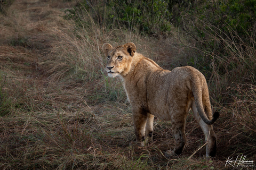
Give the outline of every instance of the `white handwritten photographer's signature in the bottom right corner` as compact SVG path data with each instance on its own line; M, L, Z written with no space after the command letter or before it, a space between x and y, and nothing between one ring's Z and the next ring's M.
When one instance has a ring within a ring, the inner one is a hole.
M239 155L234 158L234 157L231 157L230 156L228 157L228 159L226 160L226 165L231 165L233 166L234 168L238 168L239 167L253 167L254 166L254 161L253 160L245 160L246 158L246 155L242 155L241 157L239 157Z

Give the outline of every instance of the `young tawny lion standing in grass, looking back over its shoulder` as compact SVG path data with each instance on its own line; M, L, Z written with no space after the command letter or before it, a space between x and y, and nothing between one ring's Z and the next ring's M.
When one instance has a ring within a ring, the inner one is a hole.
M109 77L120 76L131 104L136 143L143 146L153 141L154 116L171 121L175 138L173 150L166 156L181 154L186 144L185 124L192 109L205 135L206 157L215 157L217 136L212 124L219 113L212 115L209 91L204 75L191 66L164 70L153 60L136 52L133 43L113 47L103 44Z

